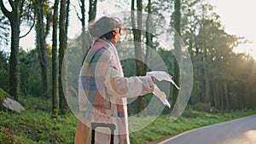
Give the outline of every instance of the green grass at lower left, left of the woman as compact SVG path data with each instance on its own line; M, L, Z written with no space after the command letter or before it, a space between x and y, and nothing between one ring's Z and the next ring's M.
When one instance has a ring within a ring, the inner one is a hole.
M76 118L47 112L0 112L0 143L73 143Z

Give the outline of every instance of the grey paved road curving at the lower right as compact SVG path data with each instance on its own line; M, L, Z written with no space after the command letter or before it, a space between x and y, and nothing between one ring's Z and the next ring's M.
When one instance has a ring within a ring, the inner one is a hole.
M190 130L159 144L256 144L256 115Z

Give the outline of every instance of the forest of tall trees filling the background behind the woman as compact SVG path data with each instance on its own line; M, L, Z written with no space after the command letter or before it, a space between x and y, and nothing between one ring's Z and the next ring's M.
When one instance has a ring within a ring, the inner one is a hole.
M70 78L76 83L78 74L63 65L79 72L84 52L91 43L87 27L91 20L98 18L97 10L101 8L97 4L104 0L78 2L79 6L75 7L72 0L0 0L0 89L24 106L38 105L38 109L53 117L70 112L67 103L72 101L67 101L65 94ZM148 49L153 49L180 85L177 59L181 58L174 54L180 53L183 47L188 49L193 66L188 107L206 112L233 112L256 107L256 61L250 55L233 51L248 40L227 33L220 15L210 3L204 0L131 0L127 4L131 8L131 29L127 28L125 38L148 47L135 43L136 49L119 51L119 55L131 53L147 61L153 59L147 53ZM112 5L120 7L118 2ZM67 37L67 33L73 31L70 29L70 9L75 9L81 27L75 38ZM150 14L154 16L150 17ZM158 18L166 21L165 29L160 28L163 27L161 24L153 25L159 22ZM128 21L124 20L127 27ZM25 28L26 33L21 33ZM153 33L148 32L150 28ZM173 49L165 49L160 44L157 37L162 30L173 35ZM35 32L34 48L22 49L20 38L32 31ZM73 60L63 62L65 53L71 51ZM126 77L141 76L148 71L139 60L123 60L121 63ZM179 91L173 85L170 89L169 100L174 106ZM129 113L143 111L151 99L152 95L140 96L129 104ZM0 101L3 102L2 98ZM40 101L47 106L42 106ZM161 114L168 113L170 110L166 107Z

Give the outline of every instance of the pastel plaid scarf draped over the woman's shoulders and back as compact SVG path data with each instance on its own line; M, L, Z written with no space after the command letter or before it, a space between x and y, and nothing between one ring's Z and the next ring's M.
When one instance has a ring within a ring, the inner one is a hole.
M113 55L112 57L106 58L106 56L103 56L106 53ZM119 142L129 143L126 99L120 98L117 99L117 104L111 103L104 85L105 72L110 59L118 63L116 68L119 71L119 76L123 77L124 74L119 62L119 56L113 44L108 42L108 40L97 39L84 58L83 66L80 71L79 109L86 114L84 118L90 121L91 119L96 119L91 118L90 112L100 112L106 115L106 111L110 109L112 105L116 105L120 119L119 122L117 122L119 134L124 134L119 135Z

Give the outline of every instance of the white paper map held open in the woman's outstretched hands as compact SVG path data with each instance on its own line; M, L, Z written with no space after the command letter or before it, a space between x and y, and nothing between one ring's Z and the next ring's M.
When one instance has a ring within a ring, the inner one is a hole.
M147 72L148 76L154 76L154 78L156 78L159 81L165 80L167 82L171 82L177 89L180 89L177 84L174 83L174 81L172 80L172 76L170 74L168 74L167 72L164 71L152 71L152 72ZM169 101L166 99L166 94L161 91L157 85L154 84L154 91L153 94L156 95L160 101L166 105L167 107L171 108L171 104L169 103Z

